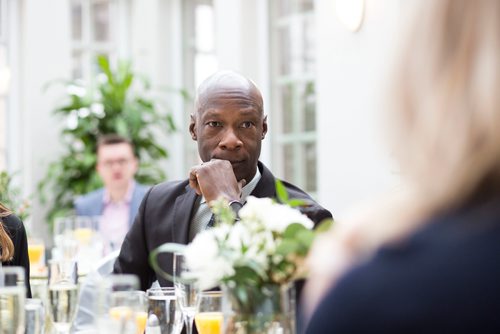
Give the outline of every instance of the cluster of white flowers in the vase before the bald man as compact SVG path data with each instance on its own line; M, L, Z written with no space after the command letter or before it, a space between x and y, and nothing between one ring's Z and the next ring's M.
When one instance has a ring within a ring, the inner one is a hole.
M224 210L231 210L227 203L216 205L222 206L221 211L216 210L221 212L220 217L227 216ZM302 259L276 254L278 245L290 224L311 229L313 222L299 210L270 198L249 197L239 216L239 221L225 219L214 228L199 233L187 246L187 265L199 287L208 289L222 282L245 284L249 270L258 276L251 275L250 279L260 282L292 279L294 264ZM288 238L288 242L298 242L293 237ZM284 271L283 263L289 264L286 268L291 272Z

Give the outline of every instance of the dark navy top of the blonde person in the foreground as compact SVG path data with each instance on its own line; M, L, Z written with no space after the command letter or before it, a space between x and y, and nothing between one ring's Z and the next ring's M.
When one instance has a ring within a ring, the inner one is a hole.
M306 333L500 333L500 198L430 221L327 294Z

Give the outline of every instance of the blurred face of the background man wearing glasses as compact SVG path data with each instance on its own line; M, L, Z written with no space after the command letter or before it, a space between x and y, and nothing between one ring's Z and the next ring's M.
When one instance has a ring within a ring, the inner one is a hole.
M106 188L127 186L137 167L137 159L127 143L103 145L97 151L97 172Z

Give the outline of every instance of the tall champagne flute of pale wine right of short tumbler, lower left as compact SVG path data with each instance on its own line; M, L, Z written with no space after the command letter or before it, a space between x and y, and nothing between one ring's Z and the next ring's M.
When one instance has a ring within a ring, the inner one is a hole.
M75 261L49 261L49 313L58 333L69 333L78 298Z

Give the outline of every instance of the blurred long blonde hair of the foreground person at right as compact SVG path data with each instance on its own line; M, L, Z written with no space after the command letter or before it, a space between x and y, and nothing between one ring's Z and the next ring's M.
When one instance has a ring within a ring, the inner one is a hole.
M429 214L500 184L500 1L421 1L396 67L391 142Z

